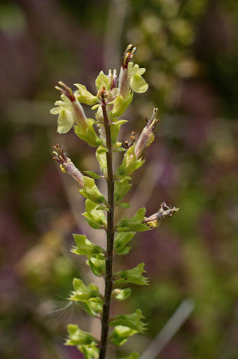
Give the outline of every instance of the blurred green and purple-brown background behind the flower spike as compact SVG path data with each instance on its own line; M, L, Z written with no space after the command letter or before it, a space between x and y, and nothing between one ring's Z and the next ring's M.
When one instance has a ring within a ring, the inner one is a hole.
M140 308L149 325L111 358L142 353L186 298L195 310L158 358L238 358L237 23L235 0L0 1L1 358L83 358L62 344L67 323L99 336L99 323L65 298L74 277L96 280L69 252L71 233L100 245L104 233L83 221L83 199L52 145L80 170L97 172L97 163L73 131L56 133L49 110L57 81L94 92L101 69L120 69L128 43L150 87L134 95L120 140L139 137L153 106L160 123L127 212L146 206L151 215L162 201L180 210L138 234L116 264L146 263L151 285L112 310Z

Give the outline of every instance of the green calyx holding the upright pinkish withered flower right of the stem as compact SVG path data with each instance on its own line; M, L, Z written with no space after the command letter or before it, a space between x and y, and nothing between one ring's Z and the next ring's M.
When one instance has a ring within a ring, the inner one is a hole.
M116 178L123 178L131 175L135 170L144 165L145 161L141 158L137 159L134 154L134 145L127 149L123 163L118 167L115 173Z

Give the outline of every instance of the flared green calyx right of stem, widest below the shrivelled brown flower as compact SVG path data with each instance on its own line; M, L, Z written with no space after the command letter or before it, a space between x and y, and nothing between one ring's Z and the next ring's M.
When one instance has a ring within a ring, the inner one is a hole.
M115 280L114 283L134 283L137 285L148 285L148 278L144 277L144 263L138 264L135 268L129 269L128 271L120 271L116 273L120 279Z

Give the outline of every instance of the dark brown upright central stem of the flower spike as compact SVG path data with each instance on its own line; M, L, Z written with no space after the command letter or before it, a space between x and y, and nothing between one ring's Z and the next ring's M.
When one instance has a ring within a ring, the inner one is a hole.
M114 240L114 181L113 181L113 163L112 163L112 146L111 146L111 129L109 118L106 111L106 102L104 97L102 97L102 111L104 114L104 126L106 132L106 146L108 151L106 152L106 163L108 170L108 177L106 179L107 189L108 189L108 203L109 203L109 212L107 215L107 231L106 231L106 240L107 240L107 255L106 255L106 276L105 276L105 302L102 315L102 335L101 335L101 348L99 359L106 358L106 346L107 338L109 333L109 316L110 316L110 306L111 306L111 291L113 289L113 240Z

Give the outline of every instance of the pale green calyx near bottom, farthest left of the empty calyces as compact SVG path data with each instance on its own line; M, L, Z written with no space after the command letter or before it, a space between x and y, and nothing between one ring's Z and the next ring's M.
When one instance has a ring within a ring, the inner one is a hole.
M83 330L80 330L76 324L69 324L68 332L69 339L66 340L65 345L75 346L97 343L97 339L94 338L92 334L83 332Z

